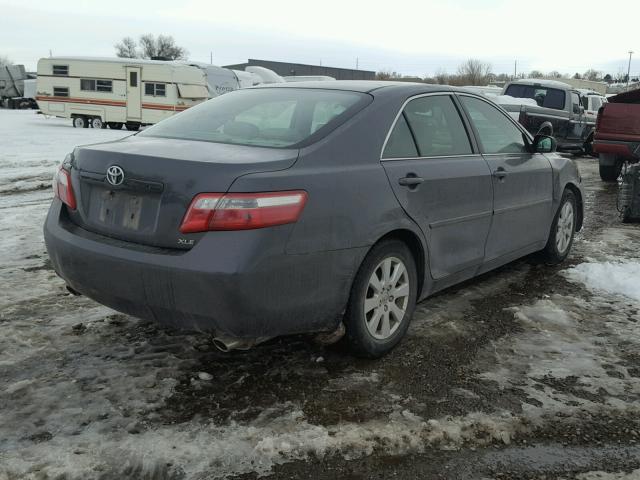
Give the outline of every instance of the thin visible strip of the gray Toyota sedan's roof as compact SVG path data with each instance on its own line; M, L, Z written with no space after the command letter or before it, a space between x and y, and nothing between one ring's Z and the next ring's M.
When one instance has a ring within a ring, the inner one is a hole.
M308 81L308 82L284 82L284 83L268 83L256 85L252 88L309 88L323 90L343 90L351 92L362 92L376 94L396 93L396 94L418 94L429 92L467 92L474 93L465 88L452 87L450 85L434 85L420 82L393 82L381 80L335 80L327 81Z

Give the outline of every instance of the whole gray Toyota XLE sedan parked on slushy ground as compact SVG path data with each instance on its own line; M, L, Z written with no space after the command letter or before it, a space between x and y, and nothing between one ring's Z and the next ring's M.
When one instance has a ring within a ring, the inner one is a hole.
M72 292L223 349L338 332L398 344L416 302L582 225L574 163L462 89L278 84L76 148L44 227Z

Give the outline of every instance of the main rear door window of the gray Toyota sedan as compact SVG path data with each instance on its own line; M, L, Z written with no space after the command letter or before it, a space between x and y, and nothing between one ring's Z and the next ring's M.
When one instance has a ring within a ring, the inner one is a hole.
M466 155L471 143L449 95L411 100L404 109L421 157Z

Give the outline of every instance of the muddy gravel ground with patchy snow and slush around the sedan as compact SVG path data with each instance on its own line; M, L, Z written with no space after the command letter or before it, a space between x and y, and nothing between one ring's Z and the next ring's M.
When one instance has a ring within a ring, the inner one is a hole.
M640 228L594 159L576 159L586 220L564 265L422 302L381 360L305 337L222 354L51 270L47 179L76 143L126 134L0 110L0 480L640 478L640 303L608 288L637 271Z

